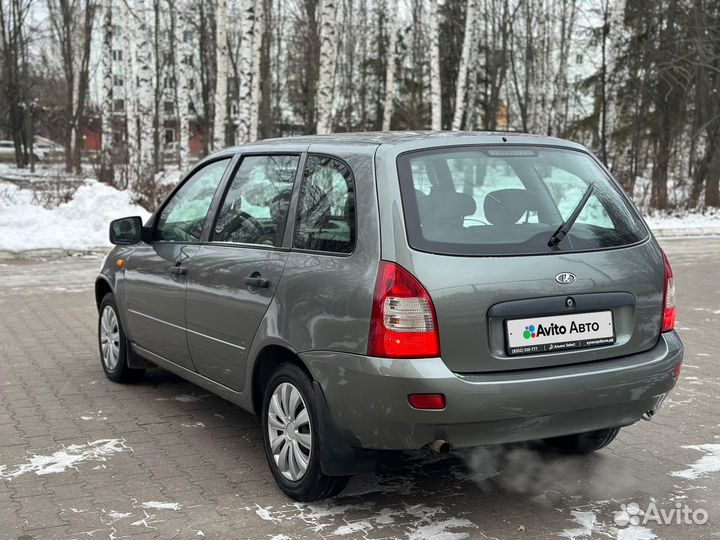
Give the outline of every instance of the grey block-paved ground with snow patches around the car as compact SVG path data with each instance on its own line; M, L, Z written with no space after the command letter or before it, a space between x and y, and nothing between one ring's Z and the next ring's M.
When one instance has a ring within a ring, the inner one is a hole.
M718 537L720 240L664 246L686 357L653 422L585 458L390 454L316 504L275 488L251 415L161 370L137 385L105 379L98 258L0 260L0 537ZM616 516L633 503L653 519ZM707 522L667 515L683 505Z

